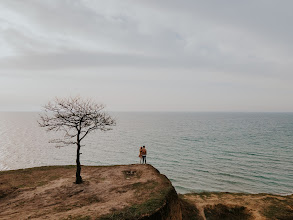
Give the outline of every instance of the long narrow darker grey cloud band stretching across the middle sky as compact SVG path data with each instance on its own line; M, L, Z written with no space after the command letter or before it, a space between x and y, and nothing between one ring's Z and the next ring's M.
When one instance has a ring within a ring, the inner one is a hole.
M57 70L72 68L156 68L194 69L196 71L225 72L230 74L275 76L288 78L291 72L281 65L237 59L235 57L153 57L137 54L93 53L86 51L67 51L66 53L35 54L30 56L10 57L0 60L2 72L9 69ZM139 72L139 71L138 71ZM281 73L281 75L280 75Z

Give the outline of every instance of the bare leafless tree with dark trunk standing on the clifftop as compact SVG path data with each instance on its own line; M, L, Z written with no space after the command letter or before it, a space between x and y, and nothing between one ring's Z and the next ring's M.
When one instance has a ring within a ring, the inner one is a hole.
M61 131L63 139L54 139L50 143L59 144L57 147L76 144L76 184L82 183L80 175L80 148L81 141L92 131L111 130L115 120L103 111L104 106L92 100L75 98L55 98L44 106L45 113L40 115L38 121L47 131Z

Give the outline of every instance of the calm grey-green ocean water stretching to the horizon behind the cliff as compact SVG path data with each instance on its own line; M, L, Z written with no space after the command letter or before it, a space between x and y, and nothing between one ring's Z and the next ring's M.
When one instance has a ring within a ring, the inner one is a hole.
M293 193L293 113L112 113L117 126L85 139L83 165L147 162L180 193ZM0 113L0 170L75 163L37 113Z

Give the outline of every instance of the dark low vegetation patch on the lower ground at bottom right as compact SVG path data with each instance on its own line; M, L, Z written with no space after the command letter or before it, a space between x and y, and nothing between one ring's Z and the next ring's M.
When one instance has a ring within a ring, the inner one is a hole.
M209 220L248 220L251 213L244 206L226 206L223 204L207 205L204 208L206 219Z

